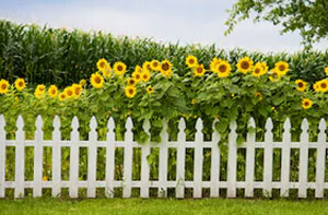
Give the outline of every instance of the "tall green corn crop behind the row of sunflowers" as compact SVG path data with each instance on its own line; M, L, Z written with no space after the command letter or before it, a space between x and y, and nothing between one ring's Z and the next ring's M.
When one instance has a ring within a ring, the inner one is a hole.
M327 22L328 23L328 22ZM185 58L195 55L206 65L213 57L235 64L243 56L253 60L265 60L271 68L279 60L290 63L292 79L304 79L313 83L323 79L328 62L328 52L260 53L241 49L222 50L215 45L197 46L159 44L151 39L115 37L110 34L84 33L36 25L17 25L0 21L0 79L13 82L24 77L32 85L39 83L67 86L81 79L89 79L95 70L95 62L105 58L112 64L122 61L129 71L145 60L167 58L176 68L176 73L185 74Z

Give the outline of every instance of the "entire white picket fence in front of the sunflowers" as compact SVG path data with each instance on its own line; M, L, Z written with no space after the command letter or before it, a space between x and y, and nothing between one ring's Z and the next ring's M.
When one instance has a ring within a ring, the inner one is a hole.
M195 141L186 141L185 120L179 121L179 133L176 142L168 141L166 133L167 124L164 123L161 133L162 142L159 144L143 144L140 145L133 141L132 120L128 118L126 122L125 141L116 141L115 122L113 118L108 120L108 133L106 141L97 140L96 119L93 117L90 122L91 131L89 133L89 141L79 140L79 120L77 117L72 121L72 131L70 141L62 141L59 131L60 121L58 117L54 120L52 140L44 140L43 120L37 117L35 140L25 140L23 131L24 122L20 116L16 120L15 140L5 140L4 131L5 121L3 116L0 116L0 198L4 198L4 191L8 188L14 189L14 196L24 196L24 189L32 188L33 196L40 196L43 188L50 188L52 196L58 196L61 188L69 188L70 198L78 198L79 188L87 189L87 198L96 196L96 188L105 188L107 198L114 198L114 188L122 188L122 196L131 196L131 188L140 188L140 196L149 198L150 188L159 189L159 196L165 198L167 188L175 188L176 198L185 196L185 188L192 188L194 198L202 198L202 189L210 189L210 196L218 198L220 189L226 189L227 198L236 196L236 189L245 189L245 196L254 196L255 189L262 189L265 195L271 195L272 189L280 189L281 196L289 196L290 189L298 189L298 198L307 196L307 189L315 189L316 198L324 198L324 189L328 189L328 182L325 182L325 163L326 163L326 121L321 119L319 123L319 133L317 142L308 141L308 123L304 119L302 123L301 142L291 142L291 123L288 119L284 122L284 132L282 142L273 142L272 129L273 124L269 118L266 123L265 142L256 142L255 133L248 133L245 143L236 144L236 122L231 122L229 134L229 160L227 160L227 180L220 179L220 148L218 142L220 134L213 132L212 141L203 141L202 121L197 120ZM253 119L249 126L255 128ZM147 121L143 129L149 133L150 124ZM5 181L5 148L7 146L15 147L15 180ZM24 180L24 156L25 146L34 147L34 180ZM45 146L52 147L52 180L43 181L43 151ZM70 147L70 178L69 181L61 180L61 147ZM87 180L79 180L79 152L80 147L87 147ZM106 148L106 172L105 181L96 180L96 158L97 147ZM124 147L124 180L117 181L114 178L115 170L115 147ZM141 147L141 180L132 180L132 152L133 148ZM150 180L150 167L147 160L151 148L160 148L160 167L159 180ZM177 148L177 164L176 164L176 180L167 180L167 162L168 148ZM186 148L195 150L194 157L194 180L185 180L185 158ZM211 174L210 181L202 181L202 163L203 150L211 150ZM237 150L246 148L246 172L245 181L237 181ZM255 181L255 151L256 148L263 148L263 180ZM273 148L281 148L281 180L272 181L272 163ZM300 171L298 181L290 181L290 156L291 148L300 148ZM316 158L316 180L315 182L307 181L307 164L309 148L317 150Z

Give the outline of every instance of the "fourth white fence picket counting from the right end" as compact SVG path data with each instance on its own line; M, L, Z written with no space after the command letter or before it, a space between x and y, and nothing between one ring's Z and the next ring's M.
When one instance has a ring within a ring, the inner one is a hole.
M266 123L265 134L265 159L263 159L263 195L270 198L272 195L272 163L273 163L273 123L272 119L268 118Z

